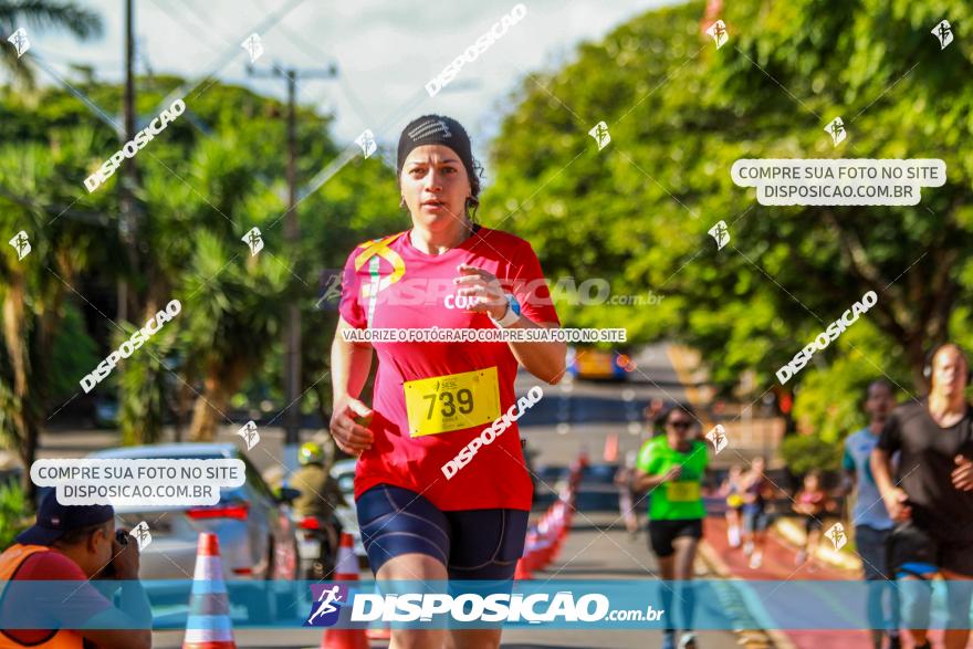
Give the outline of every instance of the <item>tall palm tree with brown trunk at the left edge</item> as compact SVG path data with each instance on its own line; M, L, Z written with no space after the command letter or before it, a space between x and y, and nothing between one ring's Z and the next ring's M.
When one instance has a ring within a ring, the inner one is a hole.
M80 161L92 138L91 129L79 128L53 133L50 145L0 146L0 232L23 231L31 247L23 259L6 241L0 252L0 384L6 386L0 389L0 441L23 462L30 502L34 485L29 470L49 407L64 302L79 274L111 240L112 229L97 227L107 224L102 213L61 207L71 206L77 193L67 179L82 175Z

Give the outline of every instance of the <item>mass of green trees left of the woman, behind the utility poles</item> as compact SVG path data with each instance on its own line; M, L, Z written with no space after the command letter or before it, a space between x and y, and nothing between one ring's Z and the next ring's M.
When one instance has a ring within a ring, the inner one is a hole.
M165 107L164 97L181 83L172 76L138 81L139 126ZM119 86L88 81L77 87L107 114L121 105ZM299 203L301 238L291 247L284 237L285 106L219 83L190 92L185 101L187 113L135 160L123 163L136 165L139 177L129 258L118 227L121 174L93 193L83 186L119 148L114 128L61 90L0 96L7 147L0 147L0 223L10 232L7 238L27 230L34 248L20 263L7 245L0 258L0 299L8 304L0 314L7 343L0 349L0 427L24 458L43 416L55 406L52 390L60 395L73 386L77 392L81 377L170 300L180 301L182 313L122 360L94 391L121 389L126 442L157 440L166 411L187 399L189 436L208 439L228 422L236 391L248 385L276 386L290 304L299 304L303 314L308 402L326 407L336 316L317 307L318 272L341 268L356 243L407 227L396 208L394 174L376 159L346 165ZM339 151L327 135L328 118L299 108L297 125L303 186ZM257 257L242 241L253 227L264 241ZM88 300L95 292L114 297L118 279L137 295L132 322L114 322L113 307L97 308ZM48 347L31 332L38 328L35 321L45 322L49 337L54 337L64 313L57 305L65 300L72 303L69 314L84 308L95 321L87 335L97 343L92 348L76 318L69 320L65 335L77 345L60 352L55 347L59 363L73 360L55 377L49 358L42 365L23 359L46 358ZM20 419L28 411L35 414L33 428L22 432Z

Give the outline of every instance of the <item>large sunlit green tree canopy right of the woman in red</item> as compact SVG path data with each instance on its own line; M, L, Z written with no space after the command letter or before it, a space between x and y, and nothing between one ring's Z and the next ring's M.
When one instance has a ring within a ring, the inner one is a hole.
M724 391L745 369L755 396L773 387L875 290L855 325L873 334L847 332L786 386L807 387L797 404L812 427L844 427L869 378L916 394L925 348L969 328L973 88L959 80L973 77L973 50L941 51L930 31L970 15L960 0L728 2L716 50L702 2L650 11L523 80L491 151L485 220L530 239L548 276L666 294L658 307L561 311L689 343ZM838 115L848 139L835 148L823 128ZM601 151L588 135L599 121ZM744 157L942 158L948 180L914 207L763 207L730 178ZM718 251L707 231L719 220L731 241Z

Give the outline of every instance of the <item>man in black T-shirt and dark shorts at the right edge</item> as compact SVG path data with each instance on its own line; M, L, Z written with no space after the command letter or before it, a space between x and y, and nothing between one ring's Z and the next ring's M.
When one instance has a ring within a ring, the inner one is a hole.
M970 635L973 593L973 411L964 397L969 365L952 344L939 347L931 365L929 396L892 411L872 451L871 470L889 515L899 523L890 549L897 576L929 578L939 572L954 582L945 647L962 649ZM889 458L896 451L900 457L892 482ZM919 649L929 647L928 593L903 605ZM909 595L903 592L904 599Z

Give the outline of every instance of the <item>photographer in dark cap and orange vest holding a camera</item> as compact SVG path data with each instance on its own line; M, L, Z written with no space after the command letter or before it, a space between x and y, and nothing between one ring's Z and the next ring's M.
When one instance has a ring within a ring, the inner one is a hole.
M115 530L111 505L62 505L52 490L36 523L0 555L0 649L151 647L138 544Z

